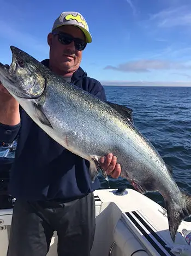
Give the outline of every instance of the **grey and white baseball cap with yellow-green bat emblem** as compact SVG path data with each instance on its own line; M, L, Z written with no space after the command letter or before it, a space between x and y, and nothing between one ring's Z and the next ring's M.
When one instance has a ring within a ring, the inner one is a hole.
M82 14L77 12L63 12L61 13L58 18L55 20L52 31L57 29L58 27L64 26L64 25L72 25L77 26L79 29L82 30L86 37L86 42L91 43L92 42L92 36L91 33L89 33L89 27L87 25L87 22L85 18L83 18Z

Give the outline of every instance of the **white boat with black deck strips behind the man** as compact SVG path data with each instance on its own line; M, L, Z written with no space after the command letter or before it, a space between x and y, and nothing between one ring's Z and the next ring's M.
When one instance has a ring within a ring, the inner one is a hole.
M94 199L96 233L91 256L191 255L191 246L182 235L182 229L191 230L191 223L182 221L175 243L172 242L166 209L151 198L134 189L119 187L96 190ZM1 256L7 255L16 198L8 195L6 200L9 207L2 208L1 201L0 209ZM55 232L47 256L56 256L56 247ZM183 250L189 252L181 254Z

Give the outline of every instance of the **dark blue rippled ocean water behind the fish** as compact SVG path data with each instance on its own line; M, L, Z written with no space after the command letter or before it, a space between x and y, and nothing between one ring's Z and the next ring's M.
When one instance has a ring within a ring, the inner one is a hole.
M191 194L191 87L104 88L109 101L133 110L135 126L171 166L177 185ZM101 189L108 187L102 175L99 179ZM109 178L109 184L133 188L122 178ZM146 196L164 206L158 192Z

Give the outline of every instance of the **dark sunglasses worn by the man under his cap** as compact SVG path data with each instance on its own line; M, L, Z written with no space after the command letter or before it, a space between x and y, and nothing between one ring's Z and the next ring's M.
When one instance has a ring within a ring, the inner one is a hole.
M83 41L80 38L75 38L73 36L70 36L67 33L63 33L63 32L52 32L52 35L58 35L58 41L62 44L70 44L71 42L74 41L74 45L76 50L84 50L86 47L86 42Z

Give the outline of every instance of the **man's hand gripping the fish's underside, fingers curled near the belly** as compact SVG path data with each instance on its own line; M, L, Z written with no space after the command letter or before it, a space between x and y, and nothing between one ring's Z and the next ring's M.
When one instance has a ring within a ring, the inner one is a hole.
M121 174L121 166L117 163L117 157L112 153L100 158L100 166L112 178L117 179Z

